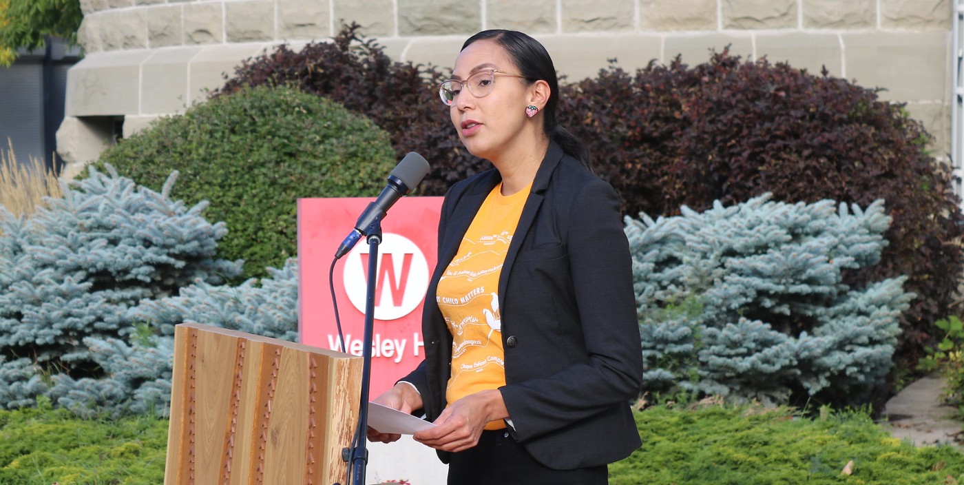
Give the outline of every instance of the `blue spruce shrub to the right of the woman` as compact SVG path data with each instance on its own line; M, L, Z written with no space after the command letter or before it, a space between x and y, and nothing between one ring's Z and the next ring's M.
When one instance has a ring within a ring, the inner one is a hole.
M854 288L891 223L822 201L714 203L654 221L627 218L648 391L786 402L858 402L892 366L905 277Z

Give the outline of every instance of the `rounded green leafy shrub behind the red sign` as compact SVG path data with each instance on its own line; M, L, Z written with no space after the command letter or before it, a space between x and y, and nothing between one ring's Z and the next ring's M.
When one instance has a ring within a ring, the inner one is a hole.
M297 254L296 201L372 197L394 166L388 135L337 103L260 86L219 96L106 150L97 167L158 190L174 170L174 197L208 201L230 229L219 254L263 276Z

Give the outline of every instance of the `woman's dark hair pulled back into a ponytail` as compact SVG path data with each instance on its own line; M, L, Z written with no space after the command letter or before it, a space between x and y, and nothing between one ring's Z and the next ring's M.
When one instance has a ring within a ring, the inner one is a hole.
M517 32L514 30L492 29L484 30L475 34L462 44L465 50L476 40L494 40L500 45L516 63L519 73L525 76L529 83L534 83L540 79L549 84L549 101L543 108L543 129L549 139L559 145L563 151L573 156L582 165L590 167L592 157L589 148L582 144L572 133L559 126L555 112L559 106L559 81L555 75L555 67L552 66L552 58L549 52L539 40Z

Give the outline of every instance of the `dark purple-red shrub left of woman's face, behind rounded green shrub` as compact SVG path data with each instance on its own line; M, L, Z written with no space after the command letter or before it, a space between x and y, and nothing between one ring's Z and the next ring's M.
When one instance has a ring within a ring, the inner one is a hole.
M310 42L298 51L278 45L235 67L212 96L286 84L334 99L388 131L396 158L417 151L429 161L431 171L419 184L419 195L442 196L455 181L491 167L459 141L439 99L442 71L392 61L375 40L362 39L359 29L354 22L344 25L334 40Z

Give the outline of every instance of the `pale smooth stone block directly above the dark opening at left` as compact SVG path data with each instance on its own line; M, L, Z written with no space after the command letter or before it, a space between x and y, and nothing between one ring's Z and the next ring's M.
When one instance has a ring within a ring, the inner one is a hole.
M88 55L67 70L67 116L120 116L140 112L140 66L146 49Z

